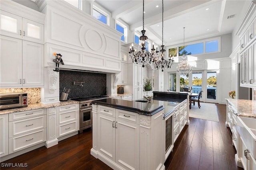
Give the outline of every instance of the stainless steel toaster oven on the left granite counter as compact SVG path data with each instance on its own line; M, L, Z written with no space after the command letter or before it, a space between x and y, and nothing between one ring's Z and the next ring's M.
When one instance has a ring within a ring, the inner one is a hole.
M2 93L0 94L0 109L13 109L28 107L27 93Z

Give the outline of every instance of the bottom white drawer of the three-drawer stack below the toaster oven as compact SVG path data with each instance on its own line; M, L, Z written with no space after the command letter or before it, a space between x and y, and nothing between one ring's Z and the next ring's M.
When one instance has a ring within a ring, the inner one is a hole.
M46 129L9 138L9 154L46 141Z

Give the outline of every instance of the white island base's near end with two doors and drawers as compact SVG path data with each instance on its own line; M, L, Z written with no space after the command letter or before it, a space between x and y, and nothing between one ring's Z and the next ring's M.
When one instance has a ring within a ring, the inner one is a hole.
M119 170L165 168L163 111L146 116L93 104L92 113L91 154L94 157Z

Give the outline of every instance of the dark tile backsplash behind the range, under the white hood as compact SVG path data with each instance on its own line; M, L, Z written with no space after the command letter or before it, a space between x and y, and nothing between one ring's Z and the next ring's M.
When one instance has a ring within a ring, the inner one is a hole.
M84 86L74 85L74 82L84 82ZM64 87L70 88L69 98L106 95L106 74L60 70L60 96Z

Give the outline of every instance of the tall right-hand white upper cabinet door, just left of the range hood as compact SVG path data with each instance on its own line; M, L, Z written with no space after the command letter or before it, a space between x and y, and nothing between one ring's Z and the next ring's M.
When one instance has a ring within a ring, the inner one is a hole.
M22 42L23 86L44 85L44 45Z

